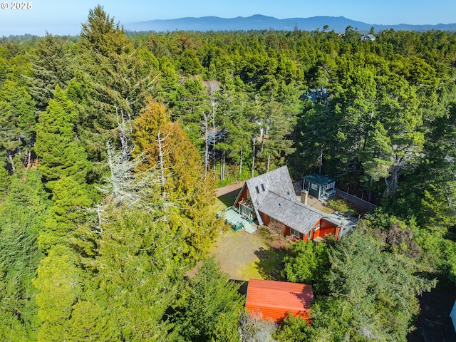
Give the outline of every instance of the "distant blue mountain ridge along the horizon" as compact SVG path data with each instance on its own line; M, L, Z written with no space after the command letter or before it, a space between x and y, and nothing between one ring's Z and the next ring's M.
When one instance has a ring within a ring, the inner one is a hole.
M218 16L203 16L201 18L159 19L140 21L125 24L128 31L249 31L267 30L273 28L276 31L293 31L294 28L304 31L322 30L328 25L329 30L344 32L347 26L357 28L361 33L368 32L371 27L375 31L383 31L393 28L395 31L456 31L456 24L437 25L380 25L367 24L362 21L354 21L343 16L313 16L310 18L277 19L272 16L254 16L237 18L219 18Z

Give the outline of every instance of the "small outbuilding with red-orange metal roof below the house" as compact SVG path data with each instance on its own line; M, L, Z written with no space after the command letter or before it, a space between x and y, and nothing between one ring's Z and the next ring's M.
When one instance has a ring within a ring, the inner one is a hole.
M314 292L309 284L250 279L246 308L252 314L261 312L264 320L280 321L291 313L310 321L309 306Z

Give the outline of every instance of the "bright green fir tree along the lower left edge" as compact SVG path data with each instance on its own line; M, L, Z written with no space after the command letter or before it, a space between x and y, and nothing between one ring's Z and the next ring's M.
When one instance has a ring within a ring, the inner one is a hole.
M40 323L32 279L43 255L36 239L49 201L37 170L11 176L9 194L0 203L0 339L36 341Z

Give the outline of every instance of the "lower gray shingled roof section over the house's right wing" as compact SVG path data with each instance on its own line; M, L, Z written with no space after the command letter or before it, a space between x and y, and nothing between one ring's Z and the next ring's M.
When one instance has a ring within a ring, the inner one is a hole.
M271 191L264 197L259 211L302 234L309 233L314 224L325 215L307 204L281 197Z

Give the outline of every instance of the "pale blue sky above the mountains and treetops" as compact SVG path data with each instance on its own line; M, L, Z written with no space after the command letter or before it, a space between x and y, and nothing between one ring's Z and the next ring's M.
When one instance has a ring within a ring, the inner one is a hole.
M263 14L279 19L345 16L368 24L452 24L456 0L33 0L31 9L11 9L0 0L0 36L33 33L78 34L97 4L120 24L185 16L234 18Z

